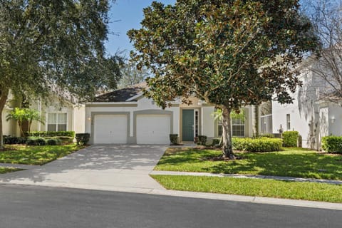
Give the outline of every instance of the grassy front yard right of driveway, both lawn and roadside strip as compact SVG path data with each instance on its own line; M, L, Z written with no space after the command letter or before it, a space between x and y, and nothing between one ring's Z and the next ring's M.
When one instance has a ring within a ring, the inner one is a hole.
M220 150L170 148L155 170L342 180L342 155L319 154L301 148L265 153L238 152L240 159L234 161L216 160L219 155ZM152 177L170 190L342 202L342 185L233 177Z

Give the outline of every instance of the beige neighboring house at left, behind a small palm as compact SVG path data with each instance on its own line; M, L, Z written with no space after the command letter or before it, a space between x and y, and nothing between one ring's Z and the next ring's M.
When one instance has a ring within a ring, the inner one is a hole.
M30 108L38 110L44 118L44 123L33 121L31 131L75 131L75 133L85 132L85 105L75 105L67 100L61 105L56 97L50 102L36 100L32 102ZM19 125L15 120L6 121L6 116L14 108L19 107L19 103L9 95L9 99L2 113L3 134L20 136ZM25 127L24 127L25 128ZM24 129L25 130L25 129Z

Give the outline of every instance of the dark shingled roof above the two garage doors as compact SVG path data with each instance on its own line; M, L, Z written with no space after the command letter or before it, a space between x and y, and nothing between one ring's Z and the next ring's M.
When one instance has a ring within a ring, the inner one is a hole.
M104 93L102 95L98 95L94 98L93 102L125 102L125 101L137 101L138 94L142 92L144 88L147 87L147 83L142 82L135 84L133 86L129 86L127 88L120 88L118 90L114 90L113 92ZM129 100L130 98L136 97L133 100Z

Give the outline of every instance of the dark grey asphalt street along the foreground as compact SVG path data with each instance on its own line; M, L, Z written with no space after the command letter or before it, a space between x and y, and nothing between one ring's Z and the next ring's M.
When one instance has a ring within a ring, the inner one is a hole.
M341 210L0 185L0 227L341 227Z

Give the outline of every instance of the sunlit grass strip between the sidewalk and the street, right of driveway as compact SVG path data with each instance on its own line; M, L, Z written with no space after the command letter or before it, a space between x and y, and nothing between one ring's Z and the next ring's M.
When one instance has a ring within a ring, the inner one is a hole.
M151 175L168 190L342 202L342 186L313 182Z

